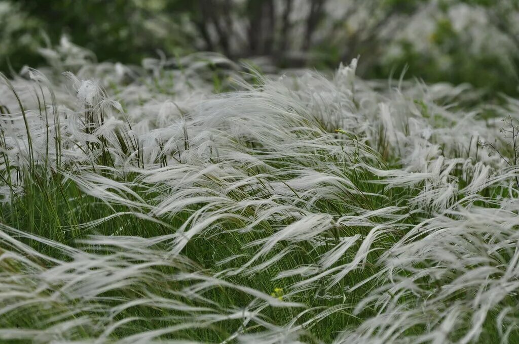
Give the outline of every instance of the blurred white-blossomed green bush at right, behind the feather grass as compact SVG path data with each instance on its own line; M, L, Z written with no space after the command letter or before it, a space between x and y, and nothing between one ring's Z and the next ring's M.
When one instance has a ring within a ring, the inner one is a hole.
M407 75L428 82L468 82L489 93L517 93L515 1L430 1L408 17L388 41L381 64L407 66ZM405 69L404 69L405 70Z

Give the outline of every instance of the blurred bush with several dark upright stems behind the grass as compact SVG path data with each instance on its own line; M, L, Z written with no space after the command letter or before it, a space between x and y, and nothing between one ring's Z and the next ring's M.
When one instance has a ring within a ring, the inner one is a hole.
M294 0L196 0L166 1L172 16L189 13L201 37L199 49L216 50L231 58L266 55L276 62L288 58L290 51L308 51L312 36L323 19L326 0L298 1L307 13L295 13ZM298 18L299 16L299 18ZM292 28L297 22L304 27L304 39L299 46L289 45ZM296 61L292 61L292 64Z

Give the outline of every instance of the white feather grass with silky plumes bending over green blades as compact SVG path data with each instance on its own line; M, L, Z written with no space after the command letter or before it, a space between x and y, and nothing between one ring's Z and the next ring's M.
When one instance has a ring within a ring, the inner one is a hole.
M0 84L0 340L517 340L516 99L75 66Z

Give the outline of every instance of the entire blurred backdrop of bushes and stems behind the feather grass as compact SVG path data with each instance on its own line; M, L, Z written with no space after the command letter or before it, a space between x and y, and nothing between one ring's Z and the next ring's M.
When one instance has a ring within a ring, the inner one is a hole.
M75 45L98 62L216 51L271 70L360 55L363 78L519 93L519 0L0 0L3 73Z

